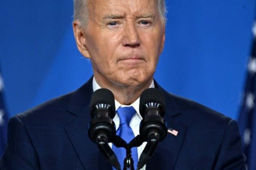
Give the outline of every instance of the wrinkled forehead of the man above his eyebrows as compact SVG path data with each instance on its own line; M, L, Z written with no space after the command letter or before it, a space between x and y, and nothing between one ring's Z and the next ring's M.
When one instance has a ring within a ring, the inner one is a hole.
M157 0L88 0L88 11L94 15L120 14L120 15L157 15Z

